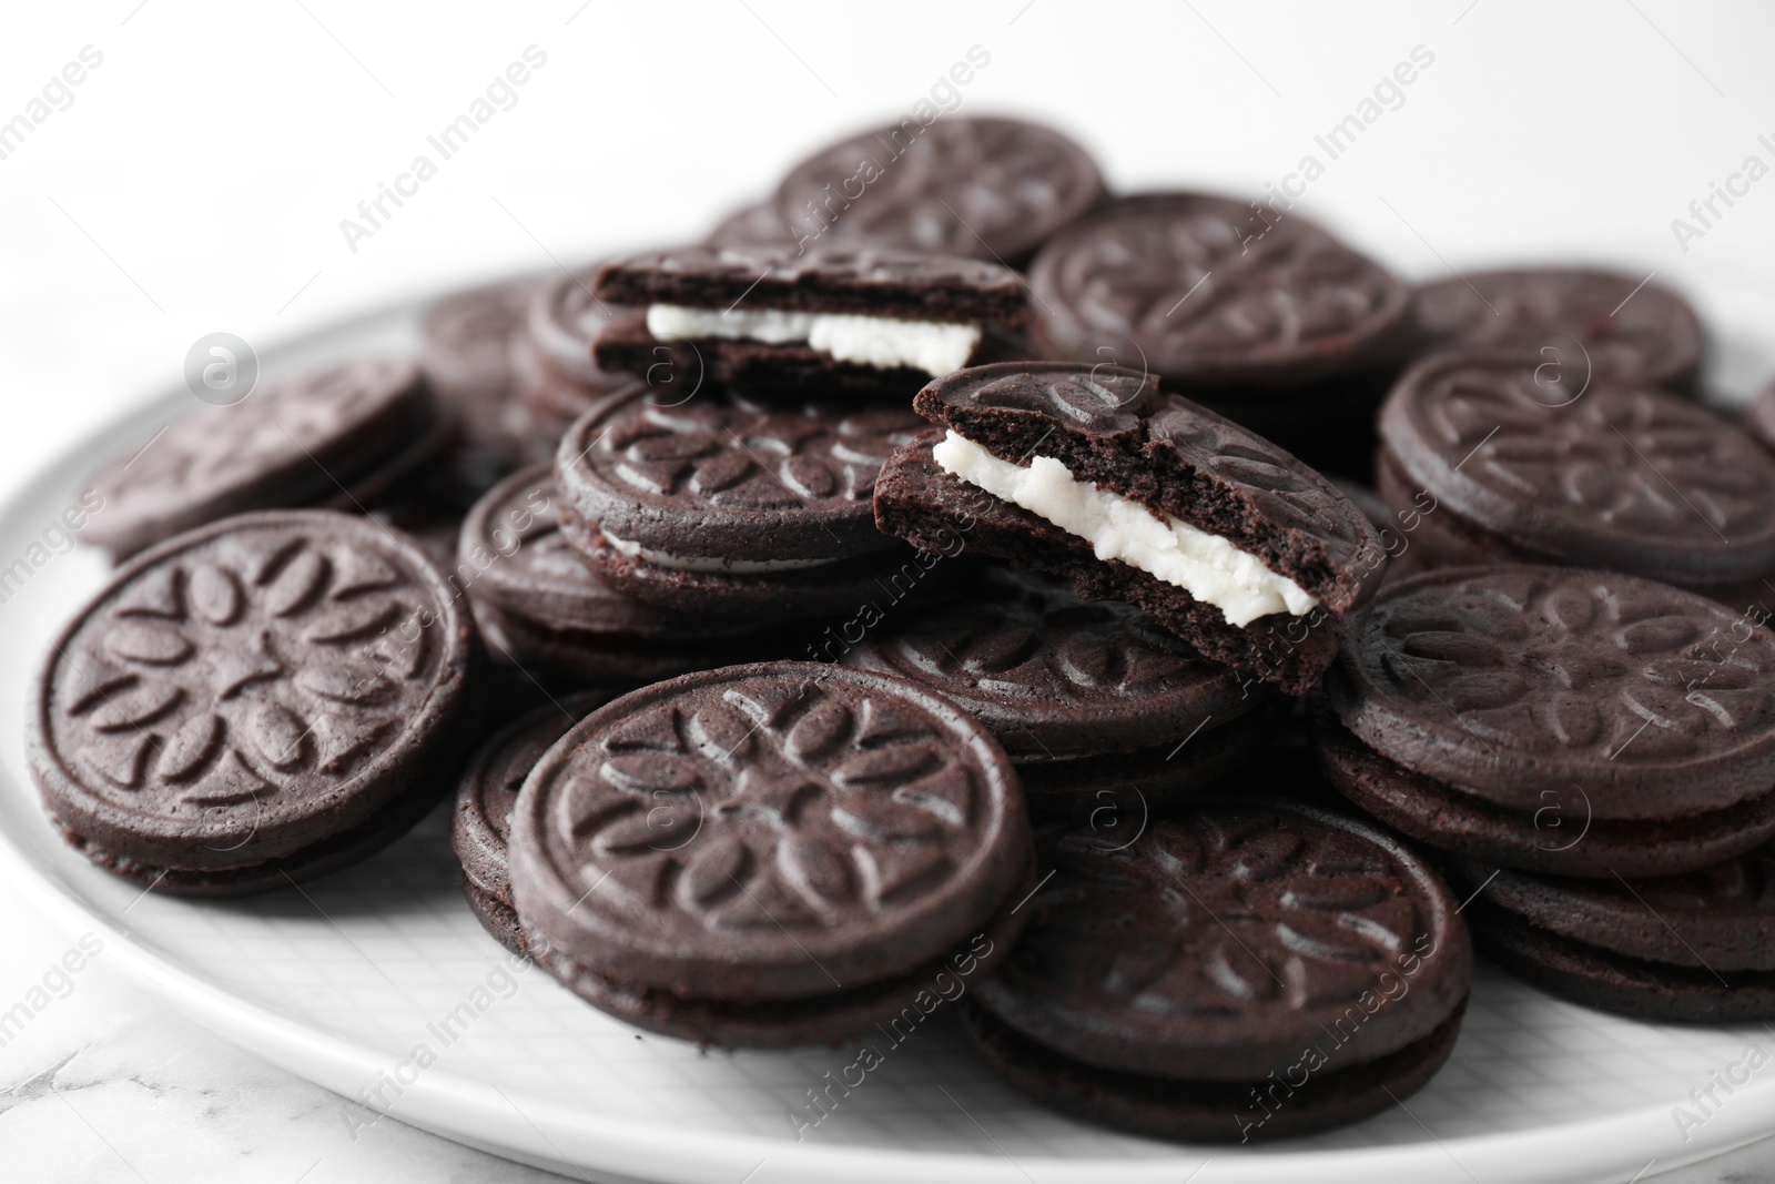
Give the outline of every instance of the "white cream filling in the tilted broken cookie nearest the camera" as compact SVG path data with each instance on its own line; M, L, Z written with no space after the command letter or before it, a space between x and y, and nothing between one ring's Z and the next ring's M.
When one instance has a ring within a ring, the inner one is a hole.
M1120 559L1214 605L1228 625L1250 625L1271 612L1303 616L1319 605L1299 584L1219 534L1175 515L1161 518L1136 501L1077 481L1053 456L1014 465L955 431L944 435L932 456L967 485L1077 534L1099 559Z

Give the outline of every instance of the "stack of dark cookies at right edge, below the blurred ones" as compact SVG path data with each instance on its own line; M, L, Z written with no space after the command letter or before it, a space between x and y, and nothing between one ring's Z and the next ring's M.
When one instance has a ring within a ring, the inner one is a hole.
M1361 614L1319 756L1454 857L1480 944L1532 982L1647 1019L1766 1017L1771 678L1766 628L1668 584L1438 570Z

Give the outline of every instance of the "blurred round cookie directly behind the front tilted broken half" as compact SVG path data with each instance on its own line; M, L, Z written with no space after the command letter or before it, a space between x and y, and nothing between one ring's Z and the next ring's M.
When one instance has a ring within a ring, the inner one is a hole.
M1205 193L1118 199L1056 234L1030 286L1044 357L1225 391L1234 417L1264 391L1392 364L1411 332L1411 289L1379 264L1305 218Z

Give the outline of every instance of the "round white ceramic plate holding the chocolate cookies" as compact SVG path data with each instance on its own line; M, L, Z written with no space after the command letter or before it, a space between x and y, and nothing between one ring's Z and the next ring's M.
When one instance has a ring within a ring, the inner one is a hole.
M1718 343L1743 392L1775 369L1757 334L1775 320L1770 302L1708 304L1716 325L1745 328ZM408 351L414 327L415 307L360 318L270 353L266 373ZM48 465L0 508L0 568L41 540L96 458L138 447L190 407L183 391L163 396ZM1686 1138L1672 1115L1748 1044L1775 1051L1768 1028L1613 1019L1480 967L1454 1058L1424 1092L1282 1147L1179 1147L1063 1118L1001 1085L943 1010L900 1046L875 1040L882 1063L848 1095L832 1088L836 1106L797 1138L790 1115L813 1124L809 1090L854 1053L703 1053L513 969L462 900L444 811L305 893L240 904L142 895L69 852L39 811L21 731L43 646L103 575L96 554L50 556L0 604L0 868L71 934L99 932L108 962L195 1022L474 1147L584 1179L685 1184L1564 1184L1628 1180L1775 1131L1775 1065ZM375 1118L339 1104L344 1125Z

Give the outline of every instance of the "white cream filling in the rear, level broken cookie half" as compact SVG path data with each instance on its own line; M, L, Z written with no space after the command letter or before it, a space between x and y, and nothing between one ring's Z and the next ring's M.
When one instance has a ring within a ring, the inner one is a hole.
M951 321L902 321L848 312L785 312L783 309L687 309L648 305L648 332L659 341L733 337L779 346L806 343L840 362L895 369L909 366L932 378L967 366L980 344L980 327Z

